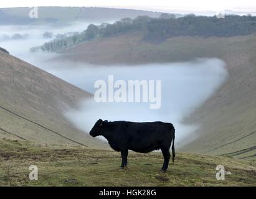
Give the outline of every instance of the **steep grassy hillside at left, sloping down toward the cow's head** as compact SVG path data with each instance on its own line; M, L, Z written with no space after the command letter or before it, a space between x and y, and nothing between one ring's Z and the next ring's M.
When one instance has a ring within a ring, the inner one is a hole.
M0 68L0 139L100 147L62 116L90 93L1 51Z

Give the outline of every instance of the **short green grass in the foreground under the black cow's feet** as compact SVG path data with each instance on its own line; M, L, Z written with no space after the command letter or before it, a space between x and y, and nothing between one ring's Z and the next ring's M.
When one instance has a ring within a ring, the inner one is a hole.
M230 157L177 154L166 173L160 152L130 152L128 167L120 170L120 154L113 150L39 146L28 141L0 140L1 186L255 186L255 162ZM216 180L216 166L231 175ZM29 165L39 168L29 180Z

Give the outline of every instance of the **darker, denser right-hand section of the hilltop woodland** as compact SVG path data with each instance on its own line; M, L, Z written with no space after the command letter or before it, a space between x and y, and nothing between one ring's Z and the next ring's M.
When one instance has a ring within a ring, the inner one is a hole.
M166 40L177 36L232 37L256 32L256 17L214 17L189 15L178 19L152 19L146 24L146 40Z

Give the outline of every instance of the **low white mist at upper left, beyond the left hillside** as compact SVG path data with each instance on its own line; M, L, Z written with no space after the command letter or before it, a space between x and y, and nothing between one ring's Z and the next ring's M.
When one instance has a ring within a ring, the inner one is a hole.
M40 62L42 53L34 54L29 50L32 47L43 45L45 42L55 39L44 38L45 32L51 32L53 35L68 34L70 32L83 32L88 25L100 25L103 21L92 22L72 22L69 25L0 25L0 47L8 50L11 55L21 58L29 63ZM113 23L113 21L107 21ZM19 36L17 36L19 35Z

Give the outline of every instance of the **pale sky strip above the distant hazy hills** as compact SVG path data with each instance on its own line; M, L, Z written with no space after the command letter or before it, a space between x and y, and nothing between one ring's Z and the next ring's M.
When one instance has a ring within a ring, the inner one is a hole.
M224 11L256 12L256 0L1 0L0 7L96 6L150 11Z

